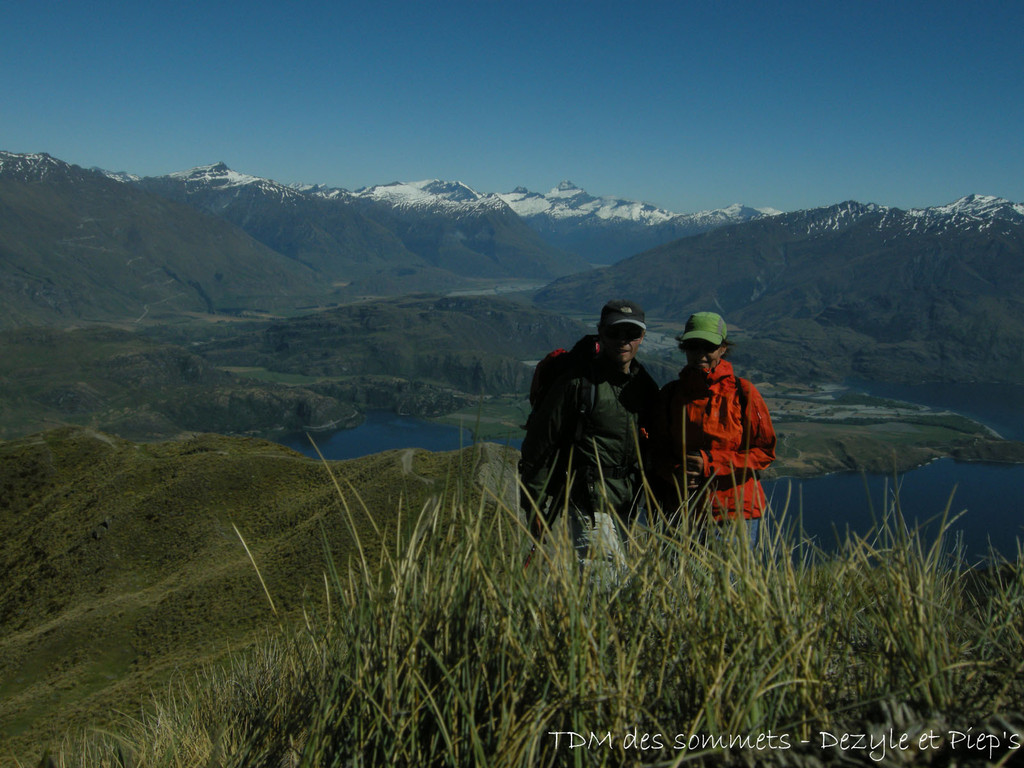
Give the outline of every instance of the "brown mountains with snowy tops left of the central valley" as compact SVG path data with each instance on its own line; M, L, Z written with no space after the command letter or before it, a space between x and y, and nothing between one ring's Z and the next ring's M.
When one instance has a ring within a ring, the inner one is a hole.
M348 193L0 153L0 328L280 312L588 268L457 182Z

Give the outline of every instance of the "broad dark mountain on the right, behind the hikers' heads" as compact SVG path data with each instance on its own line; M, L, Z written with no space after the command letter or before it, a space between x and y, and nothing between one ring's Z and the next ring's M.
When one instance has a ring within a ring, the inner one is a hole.
M771 376L1019 381L1024 205L970 196L758 218L562 279L537 302L585 310L604 296L669 324L720 311L735 354Z

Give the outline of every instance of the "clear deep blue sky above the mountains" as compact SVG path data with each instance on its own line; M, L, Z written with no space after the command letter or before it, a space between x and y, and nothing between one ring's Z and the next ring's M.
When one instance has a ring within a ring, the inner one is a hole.
M686 213L1024 202L1024 2L13 0L0 148Z

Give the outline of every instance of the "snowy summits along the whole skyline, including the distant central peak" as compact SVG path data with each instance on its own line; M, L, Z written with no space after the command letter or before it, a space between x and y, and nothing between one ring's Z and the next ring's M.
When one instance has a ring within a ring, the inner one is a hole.
M68 164L40 153L17 155L0 152L0 172L36 179L65 172ZM271 179L232 170L224 163L198 166L163 177L98 171L124 182L164 179L183 185L188 191L259 190L281 201L314 198L338 203L372 202L396 212L440 214L459 218L474 214L512 212L553 246L580 253L597 263L621 258L683 237L729 224L783 215L771 208L750 208L735 204L726 208L677 213L633 200L611 196L594 197L571 181L562 181L547 193L516 187L510 193L479 193L461 181L425 179L392 182L356 190L323 184L283 184ZM839 205L784 214L802 218L808 234L844 228L865 215L877 215L879 225L897 221L918 231L945 228L997 226L1002 221L1024 220L1024 204L984 195L969 195L942 206L898 209L871 203L847 202Z

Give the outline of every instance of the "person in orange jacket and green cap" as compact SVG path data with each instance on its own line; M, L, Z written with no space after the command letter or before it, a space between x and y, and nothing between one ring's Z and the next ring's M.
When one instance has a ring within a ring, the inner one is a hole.
M724 359L727 336L715 312L686 322L686 367L658 397L653 469L670 516L686 510L701 526L742 516L754 546L768 509L758 472L775 460L775 430L761 393Z

